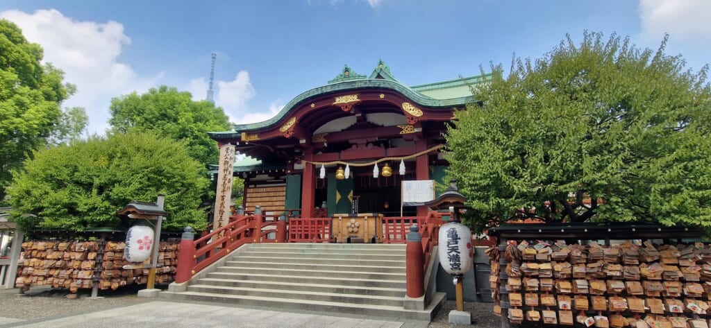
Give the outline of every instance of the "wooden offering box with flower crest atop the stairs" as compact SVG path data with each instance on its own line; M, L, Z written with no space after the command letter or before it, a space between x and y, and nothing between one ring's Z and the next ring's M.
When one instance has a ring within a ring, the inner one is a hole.
M383 240L383 214L335 214L333 242L380 243Z

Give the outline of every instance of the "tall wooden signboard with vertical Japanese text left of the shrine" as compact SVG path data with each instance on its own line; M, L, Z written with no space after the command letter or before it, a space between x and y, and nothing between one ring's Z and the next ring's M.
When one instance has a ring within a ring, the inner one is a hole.
M215 195L215 216L213 230L226 226L230 222L230 197L232 196L232 168L235 165L235 146L226 144L220 147L220 166L218 168L218 188Z

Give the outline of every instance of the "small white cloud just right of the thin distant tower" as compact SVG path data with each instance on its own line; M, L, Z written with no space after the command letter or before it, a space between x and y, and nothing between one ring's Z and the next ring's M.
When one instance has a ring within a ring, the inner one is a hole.
M238 72L235 80L230 82L217 81L217 87L215 105L221 106L231 121L237 121L242 116L241 111L246 109L247 100L257 94L250 82L250 73L245 70Z

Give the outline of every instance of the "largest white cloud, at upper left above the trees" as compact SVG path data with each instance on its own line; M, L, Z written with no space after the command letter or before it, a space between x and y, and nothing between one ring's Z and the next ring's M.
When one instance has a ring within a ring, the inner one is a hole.
M144 92L156 85L163 72L154 77L139 77L132 68L119 62L131 39L121 23L75 21L55 9L34 13L0 11L22 29L23 35L44 49L44 62L65 72L65 82L75 84L77 93L63 106L82 106L89 116L90 133L103 133L108 127L112 97L134 90Z

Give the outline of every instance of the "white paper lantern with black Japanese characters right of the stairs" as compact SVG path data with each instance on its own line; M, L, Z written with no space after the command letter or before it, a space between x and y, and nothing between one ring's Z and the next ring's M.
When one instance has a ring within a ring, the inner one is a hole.
M439 228L439 262L447 273L459 275L471 269L474 248L471 230L464 224L451 222Z

